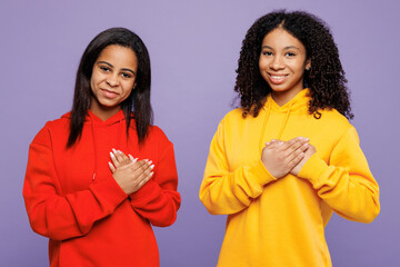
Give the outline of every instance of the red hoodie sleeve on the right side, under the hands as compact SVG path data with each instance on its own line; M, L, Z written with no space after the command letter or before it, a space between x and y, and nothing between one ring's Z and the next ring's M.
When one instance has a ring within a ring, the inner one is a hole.
M156 164L153 178L130 195L132 208L153 226L166 227L177 219L180 194L177 191L178 174L173 145L166 141Z

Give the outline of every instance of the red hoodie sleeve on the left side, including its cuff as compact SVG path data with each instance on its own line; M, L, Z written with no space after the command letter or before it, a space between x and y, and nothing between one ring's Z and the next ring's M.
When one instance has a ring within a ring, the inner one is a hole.
M94 221L111 215L128 197L113 179L63 196L47 127L30 145L22 194L32 229L53 240L86 235Z

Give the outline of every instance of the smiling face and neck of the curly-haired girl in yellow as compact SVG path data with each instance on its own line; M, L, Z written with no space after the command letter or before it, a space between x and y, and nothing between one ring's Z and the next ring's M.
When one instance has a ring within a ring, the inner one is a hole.
M310 67L304 46L282 28L272 30L263 38L259 68L279 106L303 89L304 69Z

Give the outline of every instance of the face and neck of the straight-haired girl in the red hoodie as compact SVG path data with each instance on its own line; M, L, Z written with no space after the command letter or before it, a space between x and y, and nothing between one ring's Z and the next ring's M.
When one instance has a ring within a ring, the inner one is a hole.
M106 47L96 60L90 78L90 110L102 120L117 113L136 86L137 71L138 59L130 48Z

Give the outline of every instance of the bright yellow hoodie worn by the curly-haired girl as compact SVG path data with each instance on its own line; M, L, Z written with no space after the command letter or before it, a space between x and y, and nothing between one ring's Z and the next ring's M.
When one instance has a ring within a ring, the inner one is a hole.
M269 95L259 116L230 111L211 141L200 199L228 215L218 266L331 266L324 227L332 211L370 222L379 188L356 129L337 110L308 113L308 90L279 107ZM302 136L317 149L299 177L272 177L261 162L271 139Z

